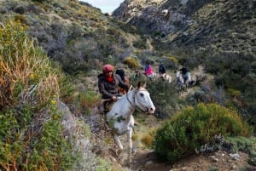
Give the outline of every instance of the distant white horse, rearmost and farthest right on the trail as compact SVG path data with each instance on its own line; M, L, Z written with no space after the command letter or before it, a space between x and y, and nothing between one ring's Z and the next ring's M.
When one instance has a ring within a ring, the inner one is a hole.
M183 93L183 88L184 87L185 87L185 91L187 91L189 93L189 88L191 88L193 83L194 83L194 81L192 80L190 72L187 73L187 76L188 76L188 78L185 81L181 71L176 71L177 89L178 89L179 94Z

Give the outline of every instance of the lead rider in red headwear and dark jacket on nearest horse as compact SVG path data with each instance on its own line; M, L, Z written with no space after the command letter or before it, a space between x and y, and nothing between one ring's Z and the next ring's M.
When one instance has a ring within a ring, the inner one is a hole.
M102 104L99 110L102 113L109 111L110 106L118 99L118 88L129 89L118 74L113 73L114 67L107 64L102 67L102 74L98 75L98 88L102 94Z

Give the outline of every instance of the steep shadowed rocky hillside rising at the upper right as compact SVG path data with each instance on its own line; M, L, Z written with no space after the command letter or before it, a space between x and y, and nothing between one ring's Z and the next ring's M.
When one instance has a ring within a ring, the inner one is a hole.
M205 66L255 124L255 11L250 0L125 0L113 16L150 35L156 50L174 54L180 64Z

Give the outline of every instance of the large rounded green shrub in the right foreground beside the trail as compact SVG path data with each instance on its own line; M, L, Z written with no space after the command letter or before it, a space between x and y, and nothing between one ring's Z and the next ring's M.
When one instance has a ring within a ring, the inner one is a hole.
M175 162L214 141L218 134L247 136L252 129L236 111L217 104L188 107L171 117L156 133L155 152L160 159Z

